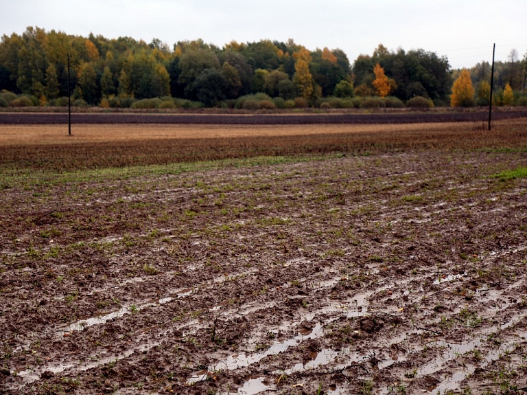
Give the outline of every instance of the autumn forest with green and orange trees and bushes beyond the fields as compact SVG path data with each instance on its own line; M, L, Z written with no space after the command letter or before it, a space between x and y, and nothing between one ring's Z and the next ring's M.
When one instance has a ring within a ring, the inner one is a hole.
M516 50L496 63L495 104L527 105L526 71ZM65 106L69 92L75 106L106 108L485 106L490 80L488 62L453 70L446 56L382 44L350 63L342 49L292 39L169 47L27 27L0 43L0 107Z

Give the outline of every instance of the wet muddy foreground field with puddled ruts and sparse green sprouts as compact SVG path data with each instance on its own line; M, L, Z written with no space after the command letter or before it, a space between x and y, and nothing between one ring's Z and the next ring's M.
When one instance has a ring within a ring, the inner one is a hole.
M3 170L0 391L521 393L526 146Z

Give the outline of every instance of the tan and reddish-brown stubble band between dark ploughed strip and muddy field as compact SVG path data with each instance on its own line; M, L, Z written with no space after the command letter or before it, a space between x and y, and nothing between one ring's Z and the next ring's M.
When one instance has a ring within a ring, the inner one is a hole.
M421 149L527 148L527 118L377 125L0 126L0 169L52 171L259 156L392 153Z

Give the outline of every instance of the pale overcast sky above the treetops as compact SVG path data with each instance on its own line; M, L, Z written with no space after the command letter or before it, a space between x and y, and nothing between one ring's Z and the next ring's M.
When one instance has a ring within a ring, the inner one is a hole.
M307 49L340 48L349 60L388 49L423 48L447 56L454 68L507 60L527 52L526 0L0 0L0 34L27 26L147 43L202 38L293 38Z

